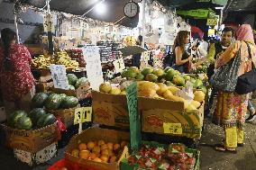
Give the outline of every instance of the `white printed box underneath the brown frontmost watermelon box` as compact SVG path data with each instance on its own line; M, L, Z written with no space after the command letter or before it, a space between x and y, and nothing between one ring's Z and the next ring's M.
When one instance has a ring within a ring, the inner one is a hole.
M42 148L36 153L23 151L20 149L14 149L14 157L29 166L36 166L49 161L52 157L57 155L58 143L54 142L46 148Z

